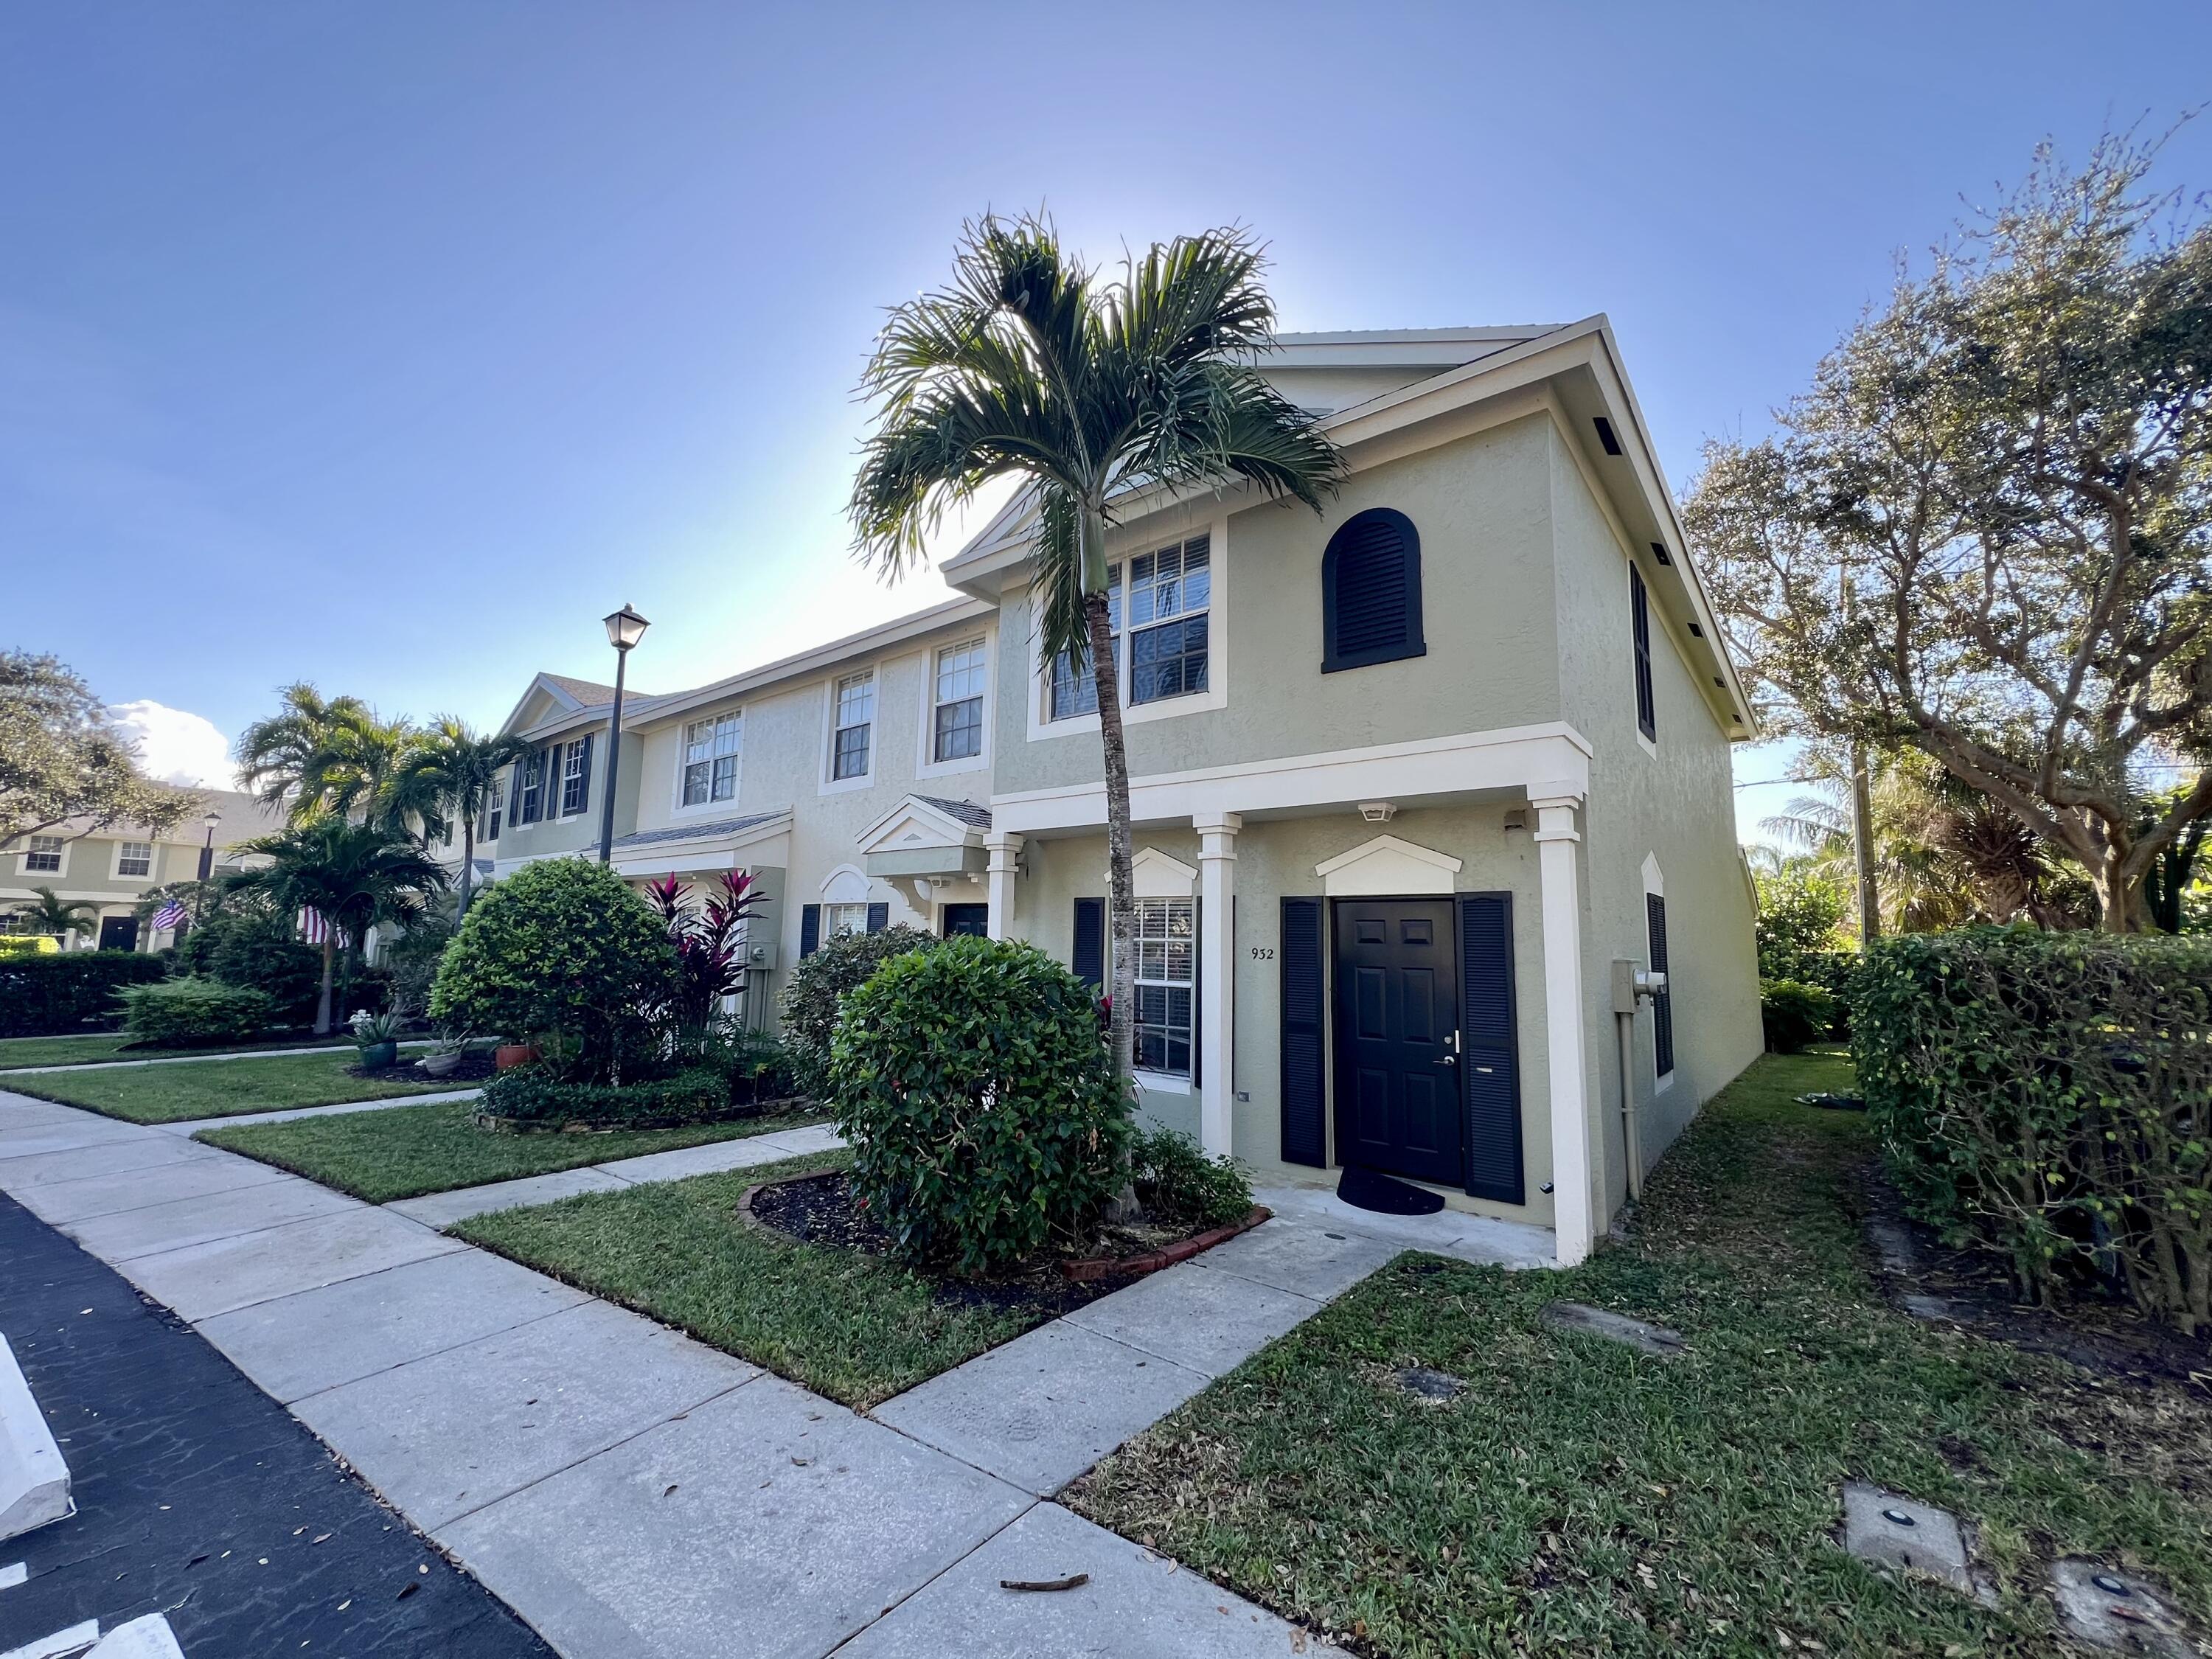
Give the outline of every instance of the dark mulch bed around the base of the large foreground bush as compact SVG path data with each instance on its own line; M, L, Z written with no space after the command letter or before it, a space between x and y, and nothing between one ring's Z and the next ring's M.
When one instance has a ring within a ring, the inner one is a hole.
M891 1254L891 1234L867 1210L845 1170L801 1175L790 1181L768 1181L745 1192L741 1214L801 1243L827 1250L858 1250L869 1256ZM916 1270L936 1283L936 1298L951 1305L987 1305L1024 1310L1044 1316L1066 1314L1099 1296L1133 1285L1150 1272L1232 1239L1267 1219L1252 1210L1225 1228L1190 1232L1188 1223L1139 1221L1128 1228L1099 1228L1082 1250L1060 1252L991 1279L956 1279Z

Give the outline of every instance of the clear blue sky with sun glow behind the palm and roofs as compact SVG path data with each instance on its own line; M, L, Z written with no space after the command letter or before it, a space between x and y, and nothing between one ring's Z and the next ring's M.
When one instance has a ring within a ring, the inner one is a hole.
M927 604L849 564L852 385L982 208L1250 223L1285 327L1608 312L1679 484L2037 139L2212 93L2212 9L2101 15L11 7L0 644L166 759L294 677L495 723L624 599L648 688Z

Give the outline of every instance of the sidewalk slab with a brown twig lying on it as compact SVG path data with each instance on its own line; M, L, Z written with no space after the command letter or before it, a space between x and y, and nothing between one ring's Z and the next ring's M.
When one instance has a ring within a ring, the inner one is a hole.
M1073 1590L1004 1590L1000 1579ZM838 1659L1276 1659L1332 1648L1265 1608L1115 1537L1060 1504L1037 1504L945 1577L900 1601Z

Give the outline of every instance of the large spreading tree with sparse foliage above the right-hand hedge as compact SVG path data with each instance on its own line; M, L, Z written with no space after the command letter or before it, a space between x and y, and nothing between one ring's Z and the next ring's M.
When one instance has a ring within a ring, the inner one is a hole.
M2212 226L2104 139L1938 252L1686 522L1776 723L1909 745L2146 925L2143 763L2212 730Z

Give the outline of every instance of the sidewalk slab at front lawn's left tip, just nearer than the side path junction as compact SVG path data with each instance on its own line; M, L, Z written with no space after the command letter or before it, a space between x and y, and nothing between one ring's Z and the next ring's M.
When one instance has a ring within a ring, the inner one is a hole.
M290 1405L584 1301L557 1279L482 1250L453 1250L217 1314L199 1334Z

